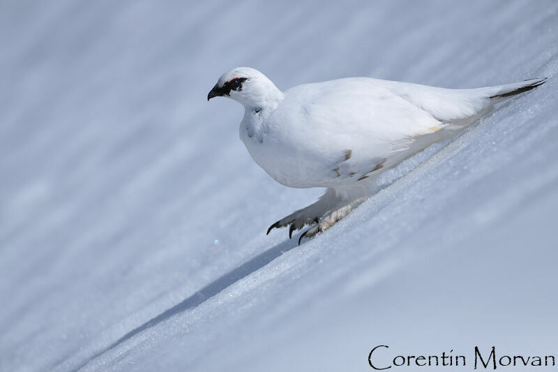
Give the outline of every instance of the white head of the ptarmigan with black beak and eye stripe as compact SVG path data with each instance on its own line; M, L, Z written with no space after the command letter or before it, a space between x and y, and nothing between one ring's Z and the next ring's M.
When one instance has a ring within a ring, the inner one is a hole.
M207 101L219 96L232 98L245 107L264 107L280 101L282 92L258 70L237 67L219 77Z

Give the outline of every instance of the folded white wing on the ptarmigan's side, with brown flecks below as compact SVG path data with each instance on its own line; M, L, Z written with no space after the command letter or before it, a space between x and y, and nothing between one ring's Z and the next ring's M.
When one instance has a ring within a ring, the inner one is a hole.
M368 178L396 163L391 160L413 149L418 138L447 125L375 81L332 80L285 92L275 114L281 142L312 163L315 177L330 184Z

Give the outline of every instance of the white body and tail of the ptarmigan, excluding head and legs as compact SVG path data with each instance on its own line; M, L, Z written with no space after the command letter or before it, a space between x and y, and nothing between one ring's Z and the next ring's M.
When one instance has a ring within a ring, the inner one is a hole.
M369 77L303 84L264 114L266 145L247 147L287 186L351 184L451 137L501 97L536 84L444 89Z

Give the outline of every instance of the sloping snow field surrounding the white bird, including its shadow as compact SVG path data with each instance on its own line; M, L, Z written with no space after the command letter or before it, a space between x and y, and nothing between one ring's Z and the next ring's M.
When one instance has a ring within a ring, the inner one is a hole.
M557 21L554 1L4 2L0 370L555 353ZM238 140L242 107L206 102L234 66L280 89L549 79L296 246L266 229L321 191L273 181Z

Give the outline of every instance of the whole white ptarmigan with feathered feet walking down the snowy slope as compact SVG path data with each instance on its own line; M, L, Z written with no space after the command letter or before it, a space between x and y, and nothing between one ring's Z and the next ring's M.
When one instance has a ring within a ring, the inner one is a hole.
M244 106L240 137L280 184L325 187L317 202L273 223L299 238L330 228L367 198L377 174L474 124L496 103L546 78L478 89L444 89L370 77L302 84L285 92L254 68L233 68L207 96Z

